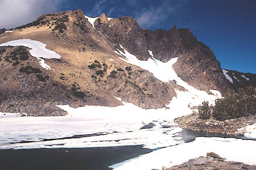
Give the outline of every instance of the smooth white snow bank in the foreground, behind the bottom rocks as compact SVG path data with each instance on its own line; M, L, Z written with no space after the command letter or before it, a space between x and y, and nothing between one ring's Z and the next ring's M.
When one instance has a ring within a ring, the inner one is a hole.
M197 137L195 141L162 148L126 162L111 165L114 170L162 169L215 152L227 161L256 164L256 141L234 138Z

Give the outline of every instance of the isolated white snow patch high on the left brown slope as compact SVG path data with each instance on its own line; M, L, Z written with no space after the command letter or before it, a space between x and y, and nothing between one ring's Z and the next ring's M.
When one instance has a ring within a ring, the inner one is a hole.
M19 40L13 40L9 42L5 42L3 44L0 44L0 46L27 46L29 49L29 52L31 56L36 57L39 60L40 65L46 69L51 70L51 67L48 66L43 58L51 59L51 58L57 58L59 59L61 56L52 50L46 49L46 44L43 42L31 40L31 39L19 39Z

